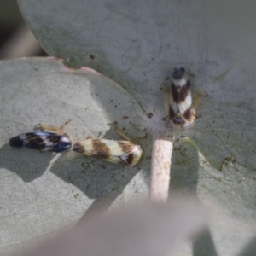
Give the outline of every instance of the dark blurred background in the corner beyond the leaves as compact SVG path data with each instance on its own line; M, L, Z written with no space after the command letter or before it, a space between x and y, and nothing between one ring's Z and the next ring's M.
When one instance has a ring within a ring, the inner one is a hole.
M0 60L46 55L20 15L17 0L1 0Z

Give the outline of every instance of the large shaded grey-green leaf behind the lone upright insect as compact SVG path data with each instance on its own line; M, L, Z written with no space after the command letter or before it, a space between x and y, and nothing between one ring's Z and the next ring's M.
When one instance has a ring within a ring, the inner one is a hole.
M152 131L170 131L166 95L173 67L194 74L201 97L190 137L215 168L227 157L255 171L254 2L20 0L49 55L92 67L128 90ZM50 20L50 22L49 22ZM180 133L177 134L177 137Z

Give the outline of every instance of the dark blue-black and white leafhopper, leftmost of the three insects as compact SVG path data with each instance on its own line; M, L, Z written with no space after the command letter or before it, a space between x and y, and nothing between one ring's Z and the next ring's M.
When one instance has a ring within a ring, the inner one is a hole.
M9 140L11 148L30 148L41 151L63 153L73 148L73 138L64 133L68 120L61 128L38 124L41 131L23 133Z

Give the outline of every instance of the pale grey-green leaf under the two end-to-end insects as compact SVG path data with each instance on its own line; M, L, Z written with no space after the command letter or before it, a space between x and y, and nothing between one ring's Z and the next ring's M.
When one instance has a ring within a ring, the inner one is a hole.
M122 193L126 201L143 196L147 182L141 174L148 175L149 158L143 166L124 168L74 152L8 145L10 137L38 123L60 127L67 119L72 121L65 131L75 142L89 136L122 139L113 130L115 121L129 137L143 137L148 117L126 90L90 68L70 69L55 58L2 61L0 70L2 255L70 224L102 200L111 204ZM145 148L151 148L148 138Z

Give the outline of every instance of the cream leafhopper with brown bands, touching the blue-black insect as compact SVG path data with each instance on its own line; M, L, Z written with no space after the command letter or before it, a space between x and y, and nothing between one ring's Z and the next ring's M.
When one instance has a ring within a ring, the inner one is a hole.
M119 131L115 124L115 131L126 141L87 138L73 144L73 151L87 156L93 156L122 166L136 166L143 160L143 149L140 145L131 143L131 139Z

